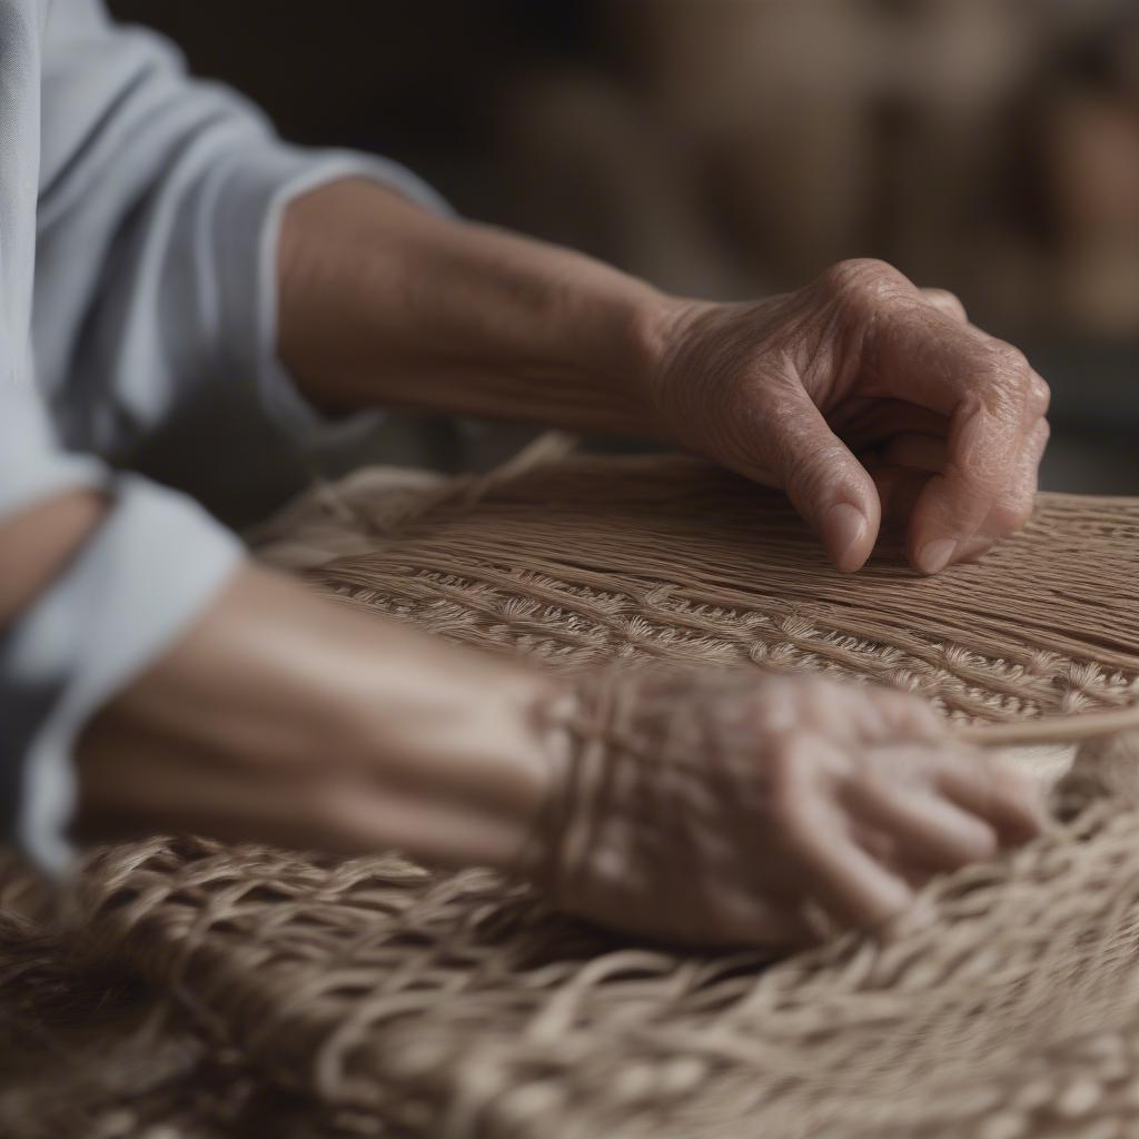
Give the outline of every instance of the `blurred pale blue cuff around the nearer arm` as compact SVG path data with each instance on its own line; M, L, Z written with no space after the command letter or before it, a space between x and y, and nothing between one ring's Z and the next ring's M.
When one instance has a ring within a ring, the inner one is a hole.
M206 607L244 556L190 499L133 476L68 568L0 631L7 831L41 869L72 860L72 753L90 716Z

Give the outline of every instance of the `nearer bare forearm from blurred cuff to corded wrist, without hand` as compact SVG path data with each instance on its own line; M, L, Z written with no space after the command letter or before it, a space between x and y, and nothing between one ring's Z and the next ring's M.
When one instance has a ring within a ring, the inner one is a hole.
M85 734L79 831L506 867L546 795L551 683L248 567Z

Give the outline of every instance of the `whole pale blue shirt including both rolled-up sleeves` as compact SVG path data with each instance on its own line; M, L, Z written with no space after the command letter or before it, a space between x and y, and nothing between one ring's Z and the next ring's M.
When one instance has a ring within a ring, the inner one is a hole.
M320 415L277 359L286 203L362 175L445 207L383 159L281 144L98 0L3 6L0 56L0 523L75 487L108 502L0 626L0 827L58 870L83 726L243 557L214 515L370 427Z

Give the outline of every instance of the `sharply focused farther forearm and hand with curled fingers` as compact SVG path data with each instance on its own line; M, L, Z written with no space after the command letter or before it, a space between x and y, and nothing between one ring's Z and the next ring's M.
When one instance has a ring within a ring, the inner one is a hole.
M679 443L786 490L845 571L884 515L934 573L1032 508L1047 385L879 262L707 304L346 180L289 206L278 273L279 350L311 400Z

